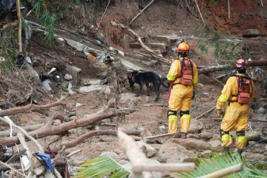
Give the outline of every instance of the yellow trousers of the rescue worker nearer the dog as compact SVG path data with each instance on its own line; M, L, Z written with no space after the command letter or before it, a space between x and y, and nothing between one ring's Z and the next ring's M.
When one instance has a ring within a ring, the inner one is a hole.
M177 110L181 110L181 132L188 133L191 122L189 109L193 97L192 85L173 85L168 98L168 133L177 132Z

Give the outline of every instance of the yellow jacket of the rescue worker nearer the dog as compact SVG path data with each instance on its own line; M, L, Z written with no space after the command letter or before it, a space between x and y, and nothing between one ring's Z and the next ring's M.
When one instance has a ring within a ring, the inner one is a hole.
M188 59L187 57L184 57L186 60ZM183 57L180 57L179 60L175 60L172 62L171 66L170 66L170 70L169 73L167 75L167 79L170 81L173 81L174 83L179 83L180 82L180 77L176 78L177 76L180 75L181 73L181 62L180 60L182 60ZM197 87L197 83L198 83L198 73L197 73L197 68L195 63L193 62L193 79L192 79L192 83L193 83L193 90L195 90L195 88Z

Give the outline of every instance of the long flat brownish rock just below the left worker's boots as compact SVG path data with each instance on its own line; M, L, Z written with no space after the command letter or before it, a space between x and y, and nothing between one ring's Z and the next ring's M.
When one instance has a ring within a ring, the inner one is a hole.
M187 150L213 150L207 142L195 138L171 138L166 142L174 142L186 147Z

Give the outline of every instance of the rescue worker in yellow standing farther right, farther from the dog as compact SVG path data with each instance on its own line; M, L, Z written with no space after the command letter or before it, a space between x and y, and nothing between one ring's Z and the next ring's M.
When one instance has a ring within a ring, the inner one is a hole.
M236 74L228 78L221 96L217 100L217 113L224 115L220 129L222 146L228 154L230 154L229 146L232 143L229 131L232 131L234 127L236 127L235 146L238 153L242 154L247 145L245 130L248 128L249 102L255 95L254 84L251 78L246 75L247 64L248 62L244 58L239 58L236 61ZM229 103L224 111L223 105L227 101Z

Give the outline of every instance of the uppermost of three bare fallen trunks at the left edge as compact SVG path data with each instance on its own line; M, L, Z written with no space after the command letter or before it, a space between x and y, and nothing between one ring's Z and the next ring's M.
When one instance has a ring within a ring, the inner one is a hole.
M40 112L40 110L48 109L54 106L63 105L63 99L56 101L54 103L49 103L45 105L35 105L35 104L28 104L26 106L20 106L20 107L13 107L6 110L0 110L0 117L6 116L6 115L14 115L18 113L29 113L29 112Z

